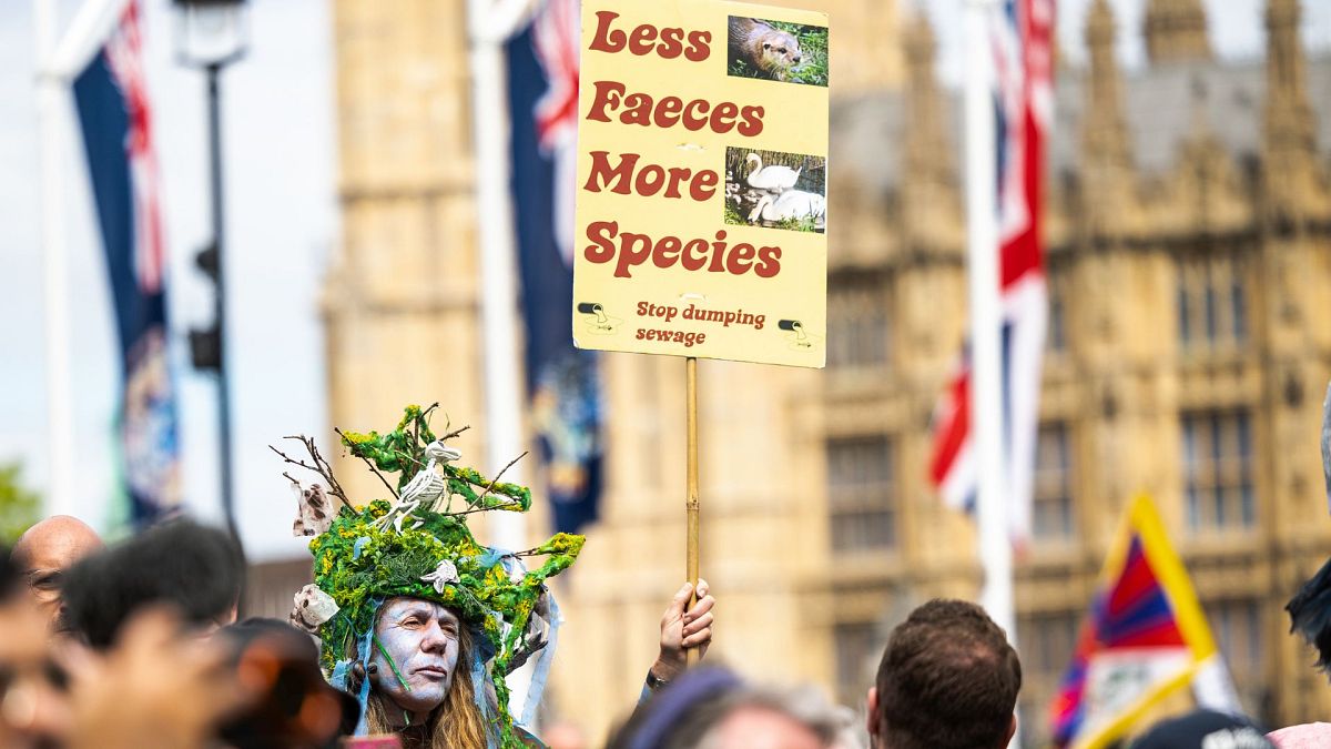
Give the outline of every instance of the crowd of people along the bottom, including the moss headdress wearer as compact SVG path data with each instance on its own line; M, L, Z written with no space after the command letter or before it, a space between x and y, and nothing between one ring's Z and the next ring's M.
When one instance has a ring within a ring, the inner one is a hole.
M435 437L430 410L407 406L383 434L341 434L391 501L353 502L311 440L301 438L310 462L280 453L322 478L306 486L286 474L293 533L311 537L313 556L313 582L286 621L240 620L245 557L222 530L176 518L106 546L72 517L29 528L0 554L0 748L543 746L531 725L562 621L547 581L575 564L584 537L556 533L527 550L480 544L469 518L526 512L531 492L457 465L443 438L458 432ZM1288 610L1327 669L1331 562ZM976 604L914 609L853 708L813 688L688 669L715 617L705 581L676 590L656 660L606 746L1001 749L1017 734L1021 661ZM530 688L516 705L506 677L522 666ZM572 745L558 733L551 746ZM1267 733L1198 710L1131 746L1331 746L1331 724Z

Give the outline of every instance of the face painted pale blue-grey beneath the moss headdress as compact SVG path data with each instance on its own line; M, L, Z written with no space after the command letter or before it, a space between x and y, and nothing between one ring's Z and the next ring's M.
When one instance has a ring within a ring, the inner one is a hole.
M370 658L379 692L413 713L442 705L458 666L458 617L439 604L419 598L385 604L374 626L382 649L374 648Z

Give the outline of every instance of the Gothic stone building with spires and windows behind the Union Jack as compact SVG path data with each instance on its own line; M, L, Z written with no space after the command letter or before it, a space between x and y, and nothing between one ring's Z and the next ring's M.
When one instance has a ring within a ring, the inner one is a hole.
M1264 20L1264 63L1219 63L1199 0L1154 0L1149 67L1125 76L1097 0L1086 69L1058 72L1036 538L1016 589L1030 742L1135 492L1158 501L1246 709L1282 725L1331 706L1282 610L1331 552L1316 452L1331 60L1300 51L1295 0L1270 0ZM832 129L843 219L819 392L828 632L847 700L892 612L974 590L977 576L968 524L922 470L965 325L957 108L934 85L929 29L904 44L904 95L843 101ZM845 568L874 573L841 582Z

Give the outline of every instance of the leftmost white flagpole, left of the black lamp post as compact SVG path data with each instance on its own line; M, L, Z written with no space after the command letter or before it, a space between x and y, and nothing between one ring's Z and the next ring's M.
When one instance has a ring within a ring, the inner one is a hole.
M59 43L56 0L35 0L37 139L41 159L41 256L45 276L47 497L45 516L75 512L75 416L71 381L69 259L60 159L60 109L65 81L53 71Z

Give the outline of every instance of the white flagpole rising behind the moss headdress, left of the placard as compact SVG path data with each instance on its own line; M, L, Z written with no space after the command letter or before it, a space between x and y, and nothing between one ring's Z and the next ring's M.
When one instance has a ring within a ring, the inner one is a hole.
M522 453L522 389L518 384L516 273L514 272L512 200L508 195L508 107L504 92L503 43L527 17L534 0L467 0L471 57L471 116L475 139L476 236L480 255L480 328L484 351L486 453L494 470ZM504 473L520 482L522 465ZM495 546L523 549L526 517L518 512L490 513ZM531 669L506 680L510 705L522 710L531 686Z

